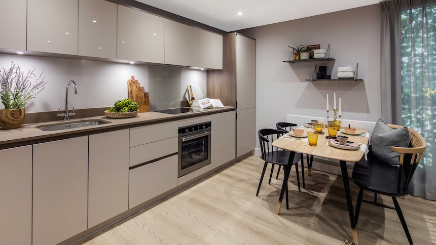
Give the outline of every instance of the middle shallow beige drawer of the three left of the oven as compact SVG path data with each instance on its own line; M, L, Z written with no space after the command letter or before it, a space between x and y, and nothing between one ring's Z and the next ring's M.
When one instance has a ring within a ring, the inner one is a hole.
M177 137L130 148L129 167L177 152Z

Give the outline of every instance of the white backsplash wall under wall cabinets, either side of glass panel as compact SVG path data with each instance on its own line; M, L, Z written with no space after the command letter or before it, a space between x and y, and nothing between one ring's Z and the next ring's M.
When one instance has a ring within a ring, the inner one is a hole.
M44 70L48 81L44 91L30 100L26 112L65 109L65 87L69 80L76 82L78 90L75 95L72 87L69 89L70 109L108 107L116 100L127 98L127 80L132 75L148 91L147 65L0 54L0 67L9 69L12 61L19 63L24 72L36 68L35 74L39 75ZM181 84L189 81L201 84L206 92L205 71L182 69ZM4 108L3 104L0 108Z

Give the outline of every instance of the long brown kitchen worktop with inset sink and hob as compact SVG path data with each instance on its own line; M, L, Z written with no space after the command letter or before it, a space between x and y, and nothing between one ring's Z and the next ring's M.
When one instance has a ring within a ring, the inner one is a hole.
M70 119L69 122L79 122L90 119L100 119L109 121L108 124L88 126L75 129L57 130L57 131L42 131L38 126L54 125L62 121L48 121L38 124L26 124L18 129L0 130L0 149L6 149L22 145L30 145L35 143L48 142L58 139L66 139L76 136L96 134L101 132L119 130L123 128L132 128L143 125L158 124L165 121L180 120L197 116L210 115L226 111L233 111L235 107L226 106L225 108L207 109L203 112L185 113L185 114L166 114L160 112L143 112L131 118L107 118L106 116L93 116L79 119Z

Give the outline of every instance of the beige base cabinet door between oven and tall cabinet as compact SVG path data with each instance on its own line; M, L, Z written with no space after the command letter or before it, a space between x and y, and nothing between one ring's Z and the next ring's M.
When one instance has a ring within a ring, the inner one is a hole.
M229 111L212 115L211 164L212 169L235 159L236 112Z

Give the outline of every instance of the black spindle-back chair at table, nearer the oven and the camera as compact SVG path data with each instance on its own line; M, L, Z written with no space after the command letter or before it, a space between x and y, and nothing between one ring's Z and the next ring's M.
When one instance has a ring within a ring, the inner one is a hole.
M264 164L264 169L262 170L262 176L261 176L261 180L259 181L259 187L258 187L258 191L256 192L256 196L259 195L259 190L261 189L262 180L264 179L268 162L273 165L277 164L283 166L283 169L291 168L292 165L295 165L296 173L297 173L298 189L300 190L300 177L298 175L298 165L297 165L298 161L301 158L300 153L295 153L294 159L292 160L292 164L289 165L288 164L290 162L289 156L291 155L290 154L291 152L281 149L279 150L277 147L273 147L271 145L274 138L277 139L278 137L280 137L282 134L285 133L286 131L275 130L275 129L259 130L259 142L261 145L261 152L262 152L261 159L265 161L265 164ZM283 181L286 181L286 209L289 209L288 193L287 193L287 177L288 176L285 176L283 178Z

